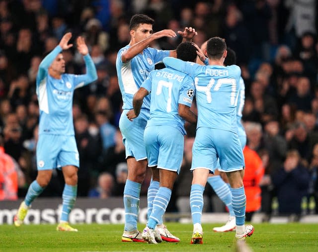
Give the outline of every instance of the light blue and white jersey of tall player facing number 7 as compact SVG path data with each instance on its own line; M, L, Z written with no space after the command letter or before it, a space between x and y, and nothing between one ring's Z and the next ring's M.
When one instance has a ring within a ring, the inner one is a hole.
M170 51L154 48L144 49L142 54L136 55L127 63L123 63L121 55L128 50L130 45L120 49L117 54L116 69L118 83L123 98L123 109L133 109L133 97L149 73L155 69L155 65L169 56ZM144 98L142 108L150 109L150 96Z

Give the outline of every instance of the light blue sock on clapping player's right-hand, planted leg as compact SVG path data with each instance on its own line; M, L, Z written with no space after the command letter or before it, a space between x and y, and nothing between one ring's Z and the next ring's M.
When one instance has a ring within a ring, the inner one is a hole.
M61 221L68 222L69 215L74 207L76 196L78 192L78 185L69 185L65 184L62 198L63 198L63 205L62 205L62 214L61 214Z

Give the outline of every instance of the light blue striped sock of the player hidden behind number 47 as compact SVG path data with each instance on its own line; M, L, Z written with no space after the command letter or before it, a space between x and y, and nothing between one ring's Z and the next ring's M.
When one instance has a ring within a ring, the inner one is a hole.
M231 216L235 216L232 207L232 193L229 185L224 182L220 175L208 177L208 183L211 185L218 197L228 207Z

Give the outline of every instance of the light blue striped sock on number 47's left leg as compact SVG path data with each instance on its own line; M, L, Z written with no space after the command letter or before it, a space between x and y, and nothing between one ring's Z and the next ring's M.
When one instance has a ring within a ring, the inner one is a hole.
M196 223L201 224L202 209L204 204L203 192L204 192L204 187L202 185L200 184L191 185L190 208L191 208L193 225Z

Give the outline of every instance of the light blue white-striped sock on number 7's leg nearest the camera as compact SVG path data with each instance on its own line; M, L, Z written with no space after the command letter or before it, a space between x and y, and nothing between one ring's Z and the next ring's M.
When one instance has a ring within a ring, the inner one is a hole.
M171 190L167 187L159 187L157 195L153 203L153 211L149 217L147 226L154 229L156 225L162 220L162 215L167 208L171 198Z

